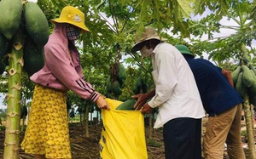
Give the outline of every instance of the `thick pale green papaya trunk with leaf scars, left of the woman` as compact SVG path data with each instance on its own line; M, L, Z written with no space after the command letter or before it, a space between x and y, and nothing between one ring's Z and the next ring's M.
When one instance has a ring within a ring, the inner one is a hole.
M8 106L4 140L4 157L19 158L20 149L20 97L21 70L23 54L23 37L18 31L13 38L13 46L9 55Z

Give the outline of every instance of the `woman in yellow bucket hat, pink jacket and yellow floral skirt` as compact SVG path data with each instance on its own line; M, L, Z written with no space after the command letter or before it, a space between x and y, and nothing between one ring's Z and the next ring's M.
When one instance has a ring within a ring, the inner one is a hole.
M61 10L48 43L44 46L44 67L30 77L35 83L31 112L21 148L36 159L72 158L68 135L67 91L109 109L102 94L84 81L79 51L74 43L82 32L84 14L67 6Z

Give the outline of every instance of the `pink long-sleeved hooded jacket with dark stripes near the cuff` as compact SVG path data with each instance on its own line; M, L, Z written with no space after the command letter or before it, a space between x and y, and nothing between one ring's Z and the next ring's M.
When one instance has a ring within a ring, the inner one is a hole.
M32 82L61 91L72 90L83 99L96 101L99 94L84 81L79 52L69 49L66 24L56 24L53 34L44 46L44 67L34 73Z

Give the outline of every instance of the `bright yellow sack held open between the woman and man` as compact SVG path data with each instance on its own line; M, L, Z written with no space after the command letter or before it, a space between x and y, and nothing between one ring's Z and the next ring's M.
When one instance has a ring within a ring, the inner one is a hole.
M111 110L102 110L102 159L146 159L144 117L140 111L121 111L115 108L122 101L106 99Z

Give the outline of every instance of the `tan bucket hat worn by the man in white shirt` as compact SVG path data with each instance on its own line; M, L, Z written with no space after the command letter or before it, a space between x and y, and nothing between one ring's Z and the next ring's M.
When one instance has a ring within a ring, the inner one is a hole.
M136 35L135 37L135 44L131 48L131 53L135 53L138 50L143 48L143 42L150 40L150 39L157 39L161 42L166 41L166 38L160 38L157 34L157 31L153 27L148 27L143 31L143 34L141 36Z

